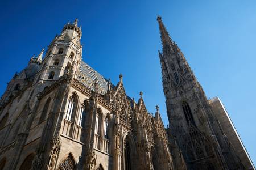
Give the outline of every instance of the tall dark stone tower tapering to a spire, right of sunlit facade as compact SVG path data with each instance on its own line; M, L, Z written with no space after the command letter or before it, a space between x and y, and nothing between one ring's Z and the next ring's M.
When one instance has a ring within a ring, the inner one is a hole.
M159 58L170 143L180 148L187 169L243 169L183 53L160 16L157 21L163 48Z

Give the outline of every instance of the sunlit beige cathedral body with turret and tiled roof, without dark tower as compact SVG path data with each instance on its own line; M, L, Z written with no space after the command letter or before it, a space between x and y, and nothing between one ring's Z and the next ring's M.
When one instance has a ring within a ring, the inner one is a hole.
M64 25L9 82L0 104L0 169L173 169L158 107L82 61L81 27Z

